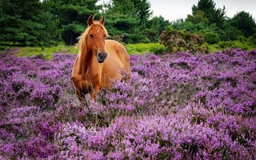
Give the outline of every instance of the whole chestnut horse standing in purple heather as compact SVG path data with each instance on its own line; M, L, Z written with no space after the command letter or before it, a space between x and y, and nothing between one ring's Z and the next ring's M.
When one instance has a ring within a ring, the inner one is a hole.
M85 94L95 100L98 90L113 86L113 79L121 80L124 70L130 75L130 57L124 46L114 40L105 40L107 34L105 18L94 21L91 15L87 28L79 37L79 53L75 59L72 81L80 101Z

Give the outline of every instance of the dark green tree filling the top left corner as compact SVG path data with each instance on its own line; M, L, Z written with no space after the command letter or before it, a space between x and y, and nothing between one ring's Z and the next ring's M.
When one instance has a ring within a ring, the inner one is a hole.
M39 0L0 2L0 42L49 46L59 40L58 20Z

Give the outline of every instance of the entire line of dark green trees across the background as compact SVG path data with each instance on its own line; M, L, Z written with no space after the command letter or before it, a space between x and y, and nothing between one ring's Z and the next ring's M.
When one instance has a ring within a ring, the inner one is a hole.
M101 5L98 0L0 0L0 43L74 45L90 14L96 19L104 15L110 38L125 43L159 42L166 27L202 34L210 44L256 39L256 23L250 13L241 11L227 18L225 7L216 8L213 0L199 0L192 6L192 14L174 22L152 17L148 0L111 0Z

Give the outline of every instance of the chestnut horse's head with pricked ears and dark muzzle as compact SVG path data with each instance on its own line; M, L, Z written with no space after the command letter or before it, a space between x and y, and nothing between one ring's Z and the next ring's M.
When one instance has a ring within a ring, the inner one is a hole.
M104 27L104 21L104 17L102 17L100 21L94 21L93 15L90 15L87 20L87 47L88 50L97 57L99 63L104 62L107 57L107 53L105 51L105 38L107 36L107 31Z

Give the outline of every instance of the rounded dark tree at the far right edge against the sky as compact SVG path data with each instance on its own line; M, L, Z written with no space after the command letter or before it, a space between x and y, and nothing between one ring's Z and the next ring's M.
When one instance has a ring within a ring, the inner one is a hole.
M242 31L246 38L256 34L256 23L250 13L241 11L230 20L230 25Z

